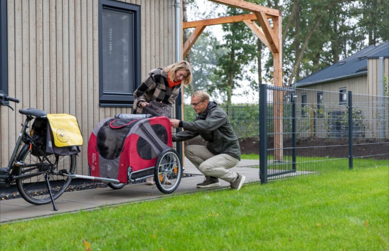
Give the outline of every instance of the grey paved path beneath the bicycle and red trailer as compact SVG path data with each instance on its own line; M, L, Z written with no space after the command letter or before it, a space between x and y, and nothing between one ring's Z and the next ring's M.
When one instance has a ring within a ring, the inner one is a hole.
M197 188L196 184L203 181L204 177L190 161L186 159L184 163L186 163L184 173L198 175L181 179L177 190L171 195L162 194L155 185L148 186L141 183L129 184L119 190L107 187L65 192L60 198L55 200L58 211L53 210L51 203L37 206L26 202L22 198L4 200L0 201L0 223L46 217L79 210L92 210L103 206L112 206L134 201L155 200L203 190ZM258 168L253 168L253 166L258 165L258 160L242 160L231 170L246 176L245 183L258 182L260 181L259 170ZM223 180L220 180L220 183L223 188L229 187L230 185Z

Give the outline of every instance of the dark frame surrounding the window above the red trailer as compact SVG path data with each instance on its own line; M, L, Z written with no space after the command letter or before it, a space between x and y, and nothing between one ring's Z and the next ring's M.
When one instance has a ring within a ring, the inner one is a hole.
M103 9L130 12L133 14L133 73L129 81L133 85L133 90L140 85L141 79L141 53L140 53L140 6L117 2L112 0L99 0L99 104L102 107L132 107L134 103L134 93L105 93L103 81ZM132 82L132 83L131 83Z

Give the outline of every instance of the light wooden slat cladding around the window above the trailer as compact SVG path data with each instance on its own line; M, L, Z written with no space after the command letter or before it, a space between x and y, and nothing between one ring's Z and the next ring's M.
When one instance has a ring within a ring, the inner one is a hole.
M141 6L141 74L174 63L174 0L126 0ZM84 144L77 173L87 175L94 126L131 108L99 107L97 0L7 1L8 88L21 100L0 110L0 162L7 166L24 118L18 109L76 115Z

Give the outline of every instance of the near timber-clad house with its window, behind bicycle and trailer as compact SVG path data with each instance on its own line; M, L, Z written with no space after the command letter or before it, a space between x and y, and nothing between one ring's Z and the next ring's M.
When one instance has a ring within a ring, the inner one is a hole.
M174 0L0 0L0 90L21 100L0 110L7 166L21 108L76 115L84 144L99 121L131 113L133 92L153 68L176 61Z

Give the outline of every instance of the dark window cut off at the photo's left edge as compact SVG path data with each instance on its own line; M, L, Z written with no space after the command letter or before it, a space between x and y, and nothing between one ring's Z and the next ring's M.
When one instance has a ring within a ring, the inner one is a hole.
M7 1L0 0L0 91L8 94Z

